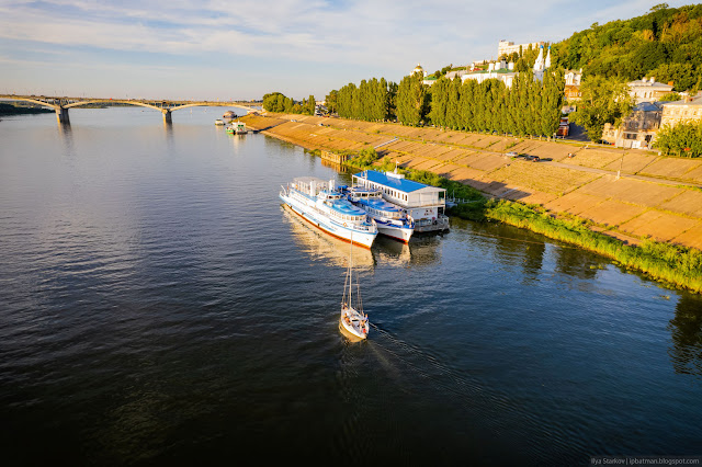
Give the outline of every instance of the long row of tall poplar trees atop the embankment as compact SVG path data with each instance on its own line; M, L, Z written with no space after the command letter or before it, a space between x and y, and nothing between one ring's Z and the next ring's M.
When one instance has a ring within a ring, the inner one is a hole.
M542 82L528 69L514 77L511 88L498 79L478 83L458 77L441 77L429 87L417 73L399 84L384 78L349 83L331 91L327 105L341 117L367 122L551 136L558 128L564 87L562 70L547 70Z

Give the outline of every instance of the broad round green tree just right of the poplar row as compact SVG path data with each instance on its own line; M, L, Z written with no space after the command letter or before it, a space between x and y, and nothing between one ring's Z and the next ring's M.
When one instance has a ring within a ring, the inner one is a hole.
M582 98L570 116L574 123L585 127L592 141L602 139L605 123L619 126L633 106L629 87L623 81L591 76L584 80L580 91Z

